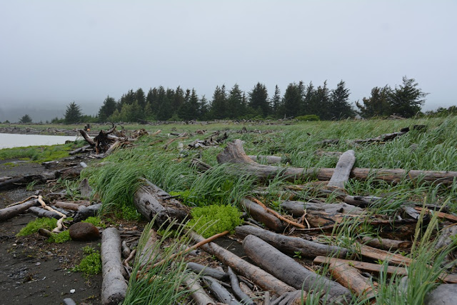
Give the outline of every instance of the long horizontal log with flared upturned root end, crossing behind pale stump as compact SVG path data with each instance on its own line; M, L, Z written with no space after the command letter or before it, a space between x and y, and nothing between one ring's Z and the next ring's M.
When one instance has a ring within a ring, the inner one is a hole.
M236 173L249 174L260 180L273 179L275 176L281 176L287 181L296 179L314 179L330 180L335 169L302 169L298 167L281 167L258 164L246 155L241 140L235 140L229 143L226 149L217 155L220 164L231 163L243 166L236 166ZM457 178L457 171L418 171L406 169L361 169L354 167L351 171L351 178L384 180L396 183L403 179L439 182L441 184L452 184Z

